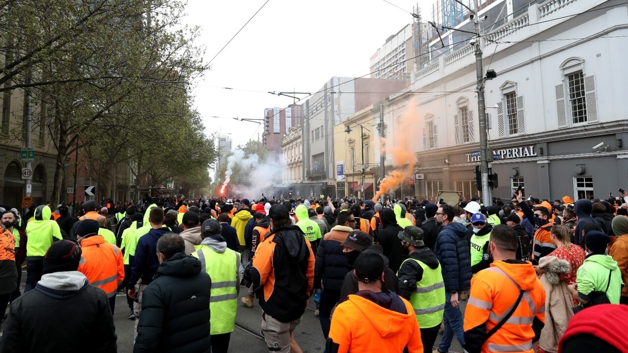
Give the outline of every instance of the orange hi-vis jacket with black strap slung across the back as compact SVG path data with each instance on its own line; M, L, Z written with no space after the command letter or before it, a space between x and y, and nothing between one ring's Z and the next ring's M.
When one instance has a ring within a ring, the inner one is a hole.
M506 317L519 296L521 302L506 323L484 344L484 335ZM464 349L469 353L533 353L545 322L545 290L529 262L495 261L475 274L465 311Z

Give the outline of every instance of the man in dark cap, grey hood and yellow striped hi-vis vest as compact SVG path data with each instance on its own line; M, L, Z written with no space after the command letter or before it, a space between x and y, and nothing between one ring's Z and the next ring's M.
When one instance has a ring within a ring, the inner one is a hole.
M212 278L212 352L226 353L236 323L240 253L227 248L227 242L220 236L220 223L215 219L203 222L201 235L203 241L194 247L197 251L192 256L200 260L202 271Z

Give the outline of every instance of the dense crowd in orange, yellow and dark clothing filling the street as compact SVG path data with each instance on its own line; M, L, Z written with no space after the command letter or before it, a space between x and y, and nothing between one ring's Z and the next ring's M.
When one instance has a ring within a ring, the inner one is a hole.
M470 353L626 352L607 326L628 313L628 194L492 204L147 196L87 201L78 217L63 204L24 217L0 207L0 351L116 352L124 295L134 352L227 352L238 305L256 298L269 351L302 352L295 329L311 296L330 353L445 353L454 337Z

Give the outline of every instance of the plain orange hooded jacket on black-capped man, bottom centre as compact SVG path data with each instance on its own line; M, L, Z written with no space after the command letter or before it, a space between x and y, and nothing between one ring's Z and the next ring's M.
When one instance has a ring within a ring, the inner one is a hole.
M423 352L414 308L404 298L406 314L380 307L371 300L349 295L333 312L327 344L330 352Z

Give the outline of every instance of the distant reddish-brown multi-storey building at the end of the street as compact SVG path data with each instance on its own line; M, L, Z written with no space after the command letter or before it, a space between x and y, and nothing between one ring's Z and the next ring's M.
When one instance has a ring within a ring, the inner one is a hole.
M283 135L293 126L301 124L301 106L291 104L282 109L279 107L264 109L264 134L262 142L269 152L281 155Z

